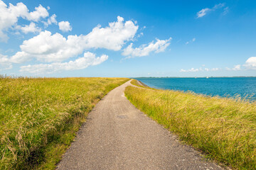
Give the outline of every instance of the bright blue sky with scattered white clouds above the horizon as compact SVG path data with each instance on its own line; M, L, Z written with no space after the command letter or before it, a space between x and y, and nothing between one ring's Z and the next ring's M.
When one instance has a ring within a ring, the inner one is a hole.
M256 1L0 0L0 74L256 77Z

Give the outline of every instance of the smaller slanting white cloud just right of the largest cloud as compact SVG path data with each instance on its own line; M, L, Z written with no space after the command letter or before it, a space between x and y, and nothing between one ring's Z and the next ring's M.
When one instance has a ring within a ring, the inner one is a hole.
M136 48L132 48L133 44L131 43L130 45L128 45L128 47L124 49L124 52L122 52L122 55L129 56L130 58L130 57L143 57L143 56L149 55L150 52L156 52L156 53L164 52L166 47L170 45L170 41L171 41L171 38L169 38L168 40L156 39L155 43L154 41L152 41L152 42L149 42L148 45L141 45Z

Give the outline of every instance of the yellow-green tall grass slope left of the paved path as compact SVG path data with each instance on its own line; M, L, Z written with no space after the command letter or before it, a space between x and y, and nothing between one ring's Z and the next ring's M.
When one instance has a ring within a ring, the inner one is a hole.
M0 78L0 169L54 169L95 103L127 80Z

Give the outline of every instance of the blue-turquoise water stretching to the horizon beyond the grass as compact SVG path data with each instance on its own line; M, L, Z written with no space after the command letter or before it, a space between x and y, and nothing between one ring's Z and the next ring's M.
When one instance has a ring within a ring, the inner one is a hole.
M209 96L252 96L256 100L256 77L135 78L156 89L193 91ZM247 97L248 98L248 97Z

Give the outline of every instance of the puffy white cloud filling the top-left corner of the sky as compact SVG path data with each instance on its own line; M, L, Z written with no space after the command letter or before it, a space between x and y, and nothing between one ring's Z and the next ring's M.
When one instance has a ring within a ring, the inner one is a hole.
M8 35L5 32L17 24L18 18L37 22L40 18L46 18L48 15L46 8L41 5L29 13L26 5L21 2L16 6L11 3L7 6L4 1L0 0L0 40L4 42L8 40Z

